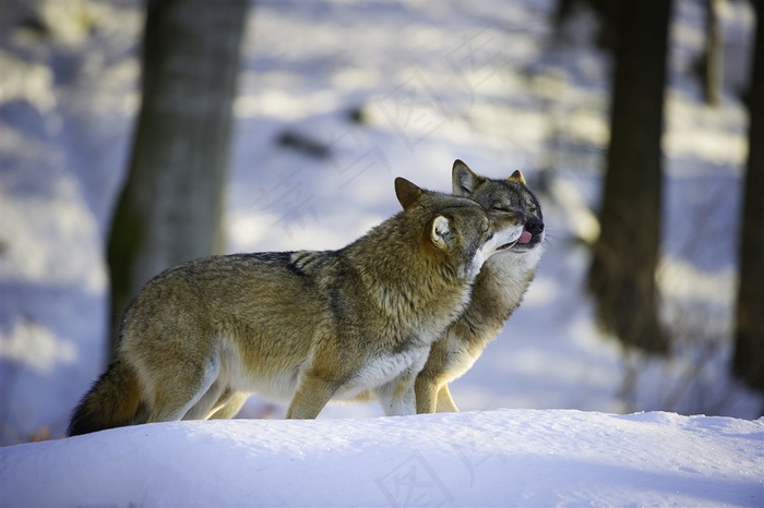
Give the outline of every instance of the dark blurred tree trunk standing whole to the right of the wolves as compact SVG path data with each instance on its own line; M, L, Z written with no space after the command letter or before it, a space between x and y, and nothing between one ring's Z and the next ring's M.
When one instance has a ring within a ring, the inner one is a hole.
M666 51L671 2L624 2L616 51L600 237L588 274L597 316L624 344L666 352L655 270L660 246Z

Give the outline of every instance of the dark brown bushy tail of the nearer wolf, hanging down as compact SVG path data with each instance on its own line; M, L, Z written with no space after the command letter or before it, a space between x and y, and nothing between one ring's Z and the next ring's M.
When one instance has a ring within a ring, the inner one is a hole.
M115 360L74 409L68 434L76 436L129 425L140 403L141 387L135 371Z

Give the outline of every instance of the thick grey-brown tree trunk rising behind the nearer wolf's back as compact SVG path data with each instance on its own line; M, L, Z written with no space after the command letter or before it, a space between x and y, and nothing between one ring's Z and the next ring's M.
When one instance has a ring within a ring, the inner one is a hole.
M249 0L148 0L143 101L111 222L111 348L141 287L222 247L231 105Z

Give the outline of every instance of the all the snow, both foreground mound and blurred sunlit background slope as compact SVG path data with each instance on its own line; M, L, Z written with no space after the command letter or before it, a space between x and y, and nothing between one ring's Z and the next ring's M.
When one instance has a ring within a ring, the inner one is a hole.
M379 418L378 404L346 404L313 422L19 444L62 437L106 360L105 231L138 105L141 3L41 0L47 36L12 24L24 3L3 4L0 506L764 506L764 421L751 420L764 398L729 376L745 112L738 82L719 108L702 104L687 69L703 19L688 0L667 94L669 358L625 353L583 290L577 239L597 232L608 140L609 61L587 38L590 19L556 46L551 0L263 0L235 105L229 252L339 247L397 210L396 176L447 191L456 158L491 177L521 169L538 191L547 252L504 331L452 384L466 412ZM737 76L745 5L725 13ZM287 148L285 133L327 153ZM665 412L616 414L653 410ZM253 399L241 416L283 414Z

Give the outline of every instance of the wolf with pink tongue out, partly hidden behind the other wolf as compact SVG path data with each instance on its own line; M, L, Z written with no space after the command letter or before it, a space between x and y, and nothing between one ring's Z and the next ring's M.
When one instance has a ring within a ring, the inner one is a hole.
M458 411L447 384L466 373L501 331L522 302L544 252L541 207L526 186L523 173L515 171L506 180L494 180L478 177L456 160L452 177L455 195L476 201L492 220L510 221L523 228L523 233L509 249L486 262L467 310L432 344L416 380L419 413Z

